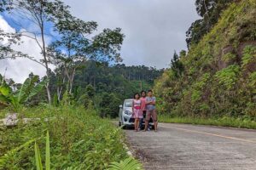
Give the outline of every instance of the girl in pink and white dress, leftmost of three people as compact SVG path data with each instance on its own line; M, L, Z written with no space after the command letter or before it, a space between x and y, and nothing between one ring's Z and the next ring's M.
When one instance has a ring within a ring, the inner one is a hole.
M132 101L132 116L135 119L134 130L137 132L139 127L139 120L143 118L142 100L140 99L140 94L134 94L134 99Z

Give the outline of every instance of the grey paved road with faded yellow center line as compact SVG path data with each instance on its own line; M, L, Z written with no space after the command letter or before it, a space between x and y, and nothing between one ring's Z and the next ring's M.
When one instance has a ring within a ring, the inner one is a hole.
M125 133L145 169L256 170L256 130L160 123Z

